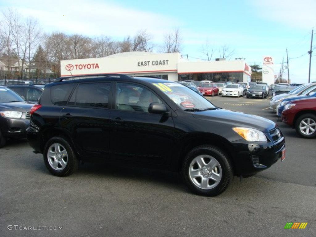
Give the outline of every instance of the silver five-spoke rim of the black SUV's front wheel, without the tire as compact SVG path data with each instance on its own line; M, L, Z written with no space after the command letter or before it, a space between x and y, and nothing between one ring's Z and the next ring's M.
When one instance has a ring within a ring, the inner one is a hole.
M195 157L189 166L191 182L201 189L212 189L222 179L222 167L220 163L210 155Z

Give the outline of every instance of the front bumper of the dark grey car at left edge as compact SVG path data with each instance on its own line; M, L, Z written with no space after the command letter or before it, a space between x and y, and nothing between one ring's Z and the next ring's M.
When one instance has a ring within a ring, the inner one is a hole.
M26 130L30 125L30 120L1 117L0 123L1 132L4 137L24 138L26 137Z

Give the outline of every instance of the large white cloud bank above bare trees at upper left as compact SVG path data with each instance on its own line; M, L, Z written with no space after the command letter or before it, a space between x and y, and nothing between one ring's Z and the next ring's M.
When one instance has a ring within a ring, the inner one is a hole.
M55 0L51 3L11 0L7 5L25 17L37 18L47 33L61 31L121 38L145 29L155 40L162 40L163 34L180 24L169 16L98 0Z

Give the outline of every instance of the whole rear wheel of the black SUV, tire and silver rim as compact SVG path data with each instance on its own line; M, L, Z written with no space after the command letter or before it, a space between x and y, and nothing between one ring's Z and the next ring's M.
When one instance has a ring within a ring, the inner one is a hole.
M75 152L63 137L52 137L45 145L44 162L53 175L67 176L78 168Z

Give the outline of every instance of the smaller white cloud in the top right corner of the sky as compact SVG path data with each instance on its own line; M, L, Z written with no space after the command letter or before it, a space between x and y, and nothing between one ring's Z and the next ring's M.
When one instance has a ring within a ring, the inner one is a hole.
M302 29L310 29L316 25L315 0L264 0L251 1L251 4L267 21L277 21Z

